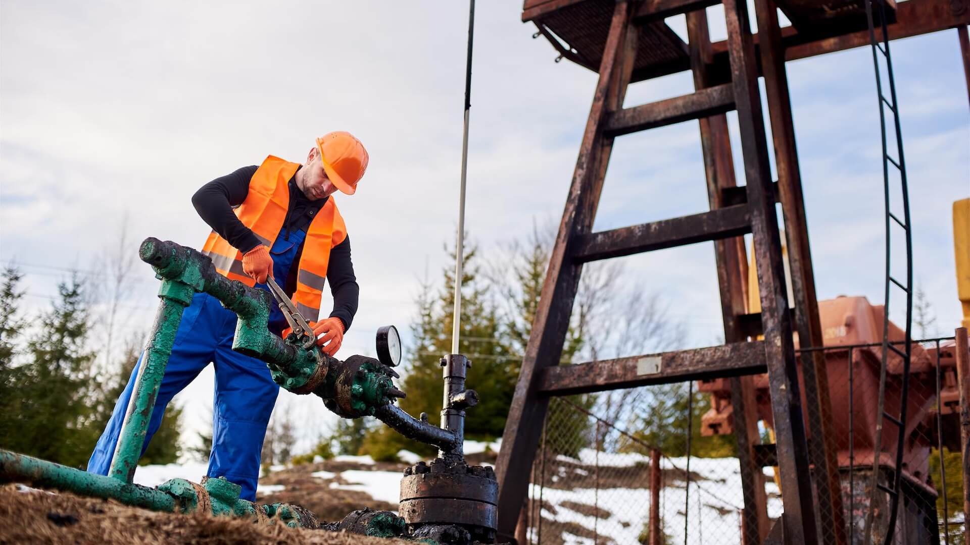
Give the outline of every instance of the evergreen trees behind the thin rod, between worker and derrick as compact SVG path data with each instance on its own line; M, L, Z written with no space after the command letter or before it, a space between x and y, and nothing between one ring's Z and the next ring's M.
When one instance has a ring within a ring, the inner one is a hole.
M466 238L468 240L468 238ZM462 321L459 351L471 361L469 388L478 393L479 403L469 409L466 437L491 441L501 436L515 391L519 369L532 333L549 260L549 244L533 231L532 237L517 241L511 256L485 274L478 267L478 252L467 248L463 259ZM436 422L441 411L441 356L451 353L454 312L454 271L457 255L448 250L451 263L442 271L440 287L421 285L416 298L417 316L412 327L413 352L404 365L402 389L407 398L401 406L415 416L422 412ZM570 362L583 345L581 326L570 328L562 361ZM593 396L571 396L570 401L589 408ZM588 443L589 422L575 411L551 413L546 424L547 448L575 456ZM555 438L552 438L555 437ZM428 445L405 439L383 426L367 434L362 454L374 460L397 459L406 449L422 456L435 455Z

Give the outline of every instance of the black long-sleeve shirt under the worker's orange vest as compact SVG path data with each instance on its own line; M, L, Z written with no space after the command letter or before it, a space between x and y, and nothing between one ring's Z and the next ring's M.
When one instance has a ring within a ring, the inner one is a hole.
M213 179L203 185L192 196L192 205L199 216L209 224L213 231L228 240L236 249L245 253L262 242L253 232L243 225L233 208L242 205L249 194L249 180L256 173L258 167L242 167L236 172ZM290 178L290 205L283 220L284 237L293 231L306 231L313 217L327 202L326 197L317 201L310 201L303 191L297 187L296 175ZM302 247L297 252L294 265L300 263L303 254ZM288 277L283 284L283 290L292 297L297 286L298 267L291 267ZM357 313L360 297L360 286L354 275L354 265L350 259L350 237L347 236L330 250L330 261L327 264L327 283L334 296L334 311L330 316L338 317L343 322L343 330L350 329L350 323Z

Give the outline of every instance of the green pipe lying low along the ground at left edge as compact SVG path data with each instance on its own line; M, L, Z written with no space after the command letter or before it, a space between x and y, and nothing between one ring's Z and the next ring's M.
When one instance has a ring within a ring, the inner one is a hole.
M0 449L0 480L27 481L81 496L116 499L155 511L175 511L174 497L153 488Z

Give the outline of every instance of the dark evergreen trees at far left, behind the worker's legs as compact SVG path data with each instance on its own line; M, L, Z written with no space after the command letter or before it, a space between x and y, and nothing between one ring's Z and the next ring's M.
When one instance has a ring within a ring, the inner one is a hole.
M58 285L49 310L29 320L19 311L22 274L0 273L0 448L84 467L137 361L129 350L117 373L95 363L88 284L78 274ZM178 409L149 445L141 464L178 459Z

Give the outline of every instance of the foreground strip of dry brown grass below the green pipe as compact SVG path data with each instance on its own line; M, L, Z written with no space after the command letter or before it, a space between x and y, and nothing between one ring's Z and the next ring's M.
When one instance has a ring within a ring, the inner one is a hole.
M254 525L229 517L159 513L113 500L0 487L0 544L132 543L404 545L405 541Z

